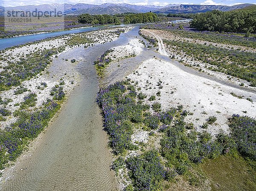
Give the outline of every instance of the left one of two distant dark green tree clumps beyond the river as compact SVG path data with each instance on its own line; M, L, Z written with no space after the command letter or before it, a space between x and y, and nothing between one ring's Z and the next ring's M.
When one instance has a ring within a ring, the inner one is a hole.
M120 25L121 21L118 17L115 15L110 15L110 14L96 14L96 15L91 15L91 14L80 14L78 16L78 22L83 23L83 24L111 24L114 23L115 25Z

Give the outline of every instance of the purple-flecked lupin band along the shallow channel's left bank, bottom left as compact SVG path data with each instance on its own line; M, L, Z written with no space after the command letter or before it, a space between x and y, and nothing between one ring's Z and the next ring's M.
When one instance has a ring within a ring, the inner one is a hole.
M57 103L47 100L42 108L33 113L23 111L17 122L0 130L0 169L21 154L29 140L37 137L58 108Z

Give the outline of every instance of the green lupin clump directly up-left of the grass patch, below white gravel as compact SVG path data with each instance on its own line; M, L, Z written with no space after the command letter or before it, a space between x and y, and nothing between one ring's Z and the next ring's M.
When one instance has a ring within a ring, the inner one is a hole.
M218 157L223 151L220 143L212 140L209 133L190 131L186 133L186 123L177 120L175 125L167 127L161 140L163 156L169 160L169 167L178 174L186 174L192 163L201 163L204 158Z

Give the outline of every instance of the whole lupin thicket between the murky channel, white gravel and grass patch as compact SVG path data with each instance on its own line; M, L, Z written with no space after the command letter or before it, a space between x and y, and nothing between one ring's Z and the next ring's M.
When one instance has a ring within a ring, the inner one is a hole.
M185 122L190 113L181 105L167 111L152 111L150 108L156 102L147 105L146 97L126 80L101 88L96 98L116 155L113 169L123 177L128 176L126 191L161 190L177 176L187 177L191 185L199 186L204 184L204 178L195 169L200 168L200 163L221 156L244 157L252 168L249 174L255 174L255 119L234 114L229 119L230 135L220 131L213 139L206 131L199 133ZM207 123L215 120L210 117ZM137 129L147 131L149 140L158 137L160 147L134 143L131 137ZM254 184L247 188L255 188L255 180L250 181Z

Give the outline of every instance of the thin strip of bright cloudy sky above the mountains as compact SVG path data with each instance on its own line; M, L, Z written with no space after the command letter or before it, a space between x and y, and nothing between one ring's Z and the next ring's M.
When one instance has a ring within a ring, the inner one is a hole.
M87 3L100 5L103 3L128 3L134 5L166 6L168 4L194 4L194 5L227 5L233 6L242 3L256 4L256 0L0 0L0 6L25 6L51 3Z

